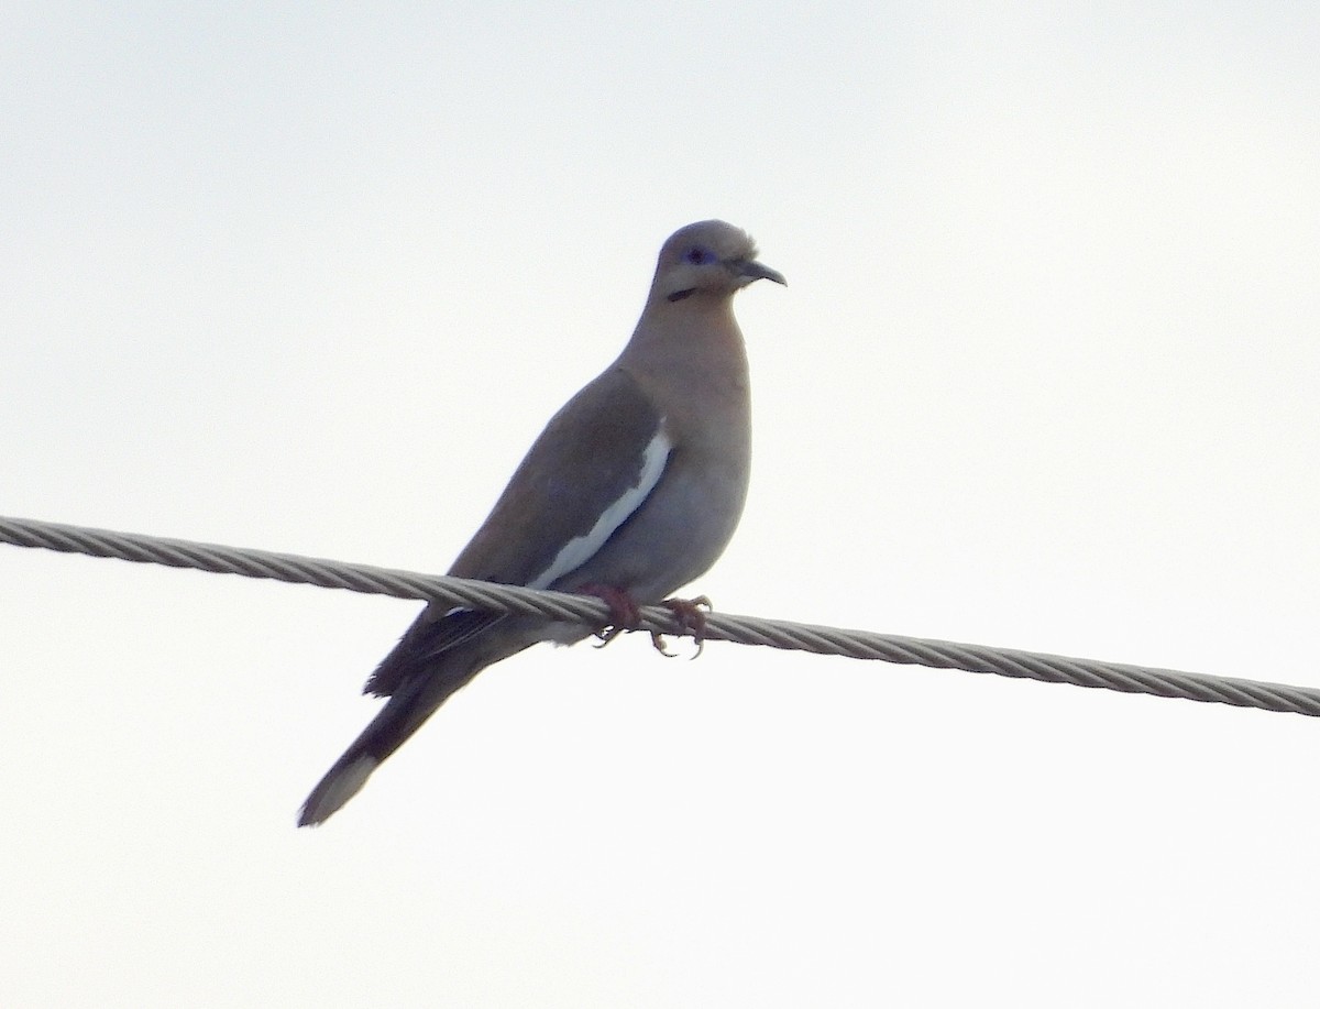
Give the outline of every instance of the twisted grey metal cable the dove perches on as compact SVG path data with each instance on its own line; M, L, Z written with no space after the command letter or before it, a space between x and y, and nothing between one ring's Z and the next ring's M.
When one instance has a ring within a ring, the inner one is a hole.
M515 585L496 585L470 578L420 574L411 571L304 557L293 553L222 547L191 540L162 539L129 532L66 526L36 519L0 518L0 543L16 547L117 557L139 564L195 568L219 574L273 578L326 589L428 600L451 606L550 617L602 627L610 609L590 596L544 592ZM643 606L639 630L692 637L671 610ZM853 659L878 659L907 666L929 666L966 672L1067 683L1074 687L1148 693L1156 697L1232 704L1320 717L1320 689L1290 687L1259 680L1179 672L1063 655L991 648L979 644L904 638L874 631L824 627L791 621L742 617L730 613L706 615L705 641L729 641Z

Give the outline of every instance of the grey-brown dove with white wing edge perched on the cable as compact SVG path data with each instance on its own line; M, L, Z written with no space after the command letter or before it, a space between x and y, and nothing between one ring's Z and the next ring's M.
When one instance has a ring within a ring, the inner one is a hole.
M787 284L741 228L700 221L671 235L632 337L550 419L449 573L598 596L623 614L615 629L704 574L747 497L748 370L733 296L756 280ZM312 790L298 825L342 808L486 667L590 634L428 604L367 680L384 707Z

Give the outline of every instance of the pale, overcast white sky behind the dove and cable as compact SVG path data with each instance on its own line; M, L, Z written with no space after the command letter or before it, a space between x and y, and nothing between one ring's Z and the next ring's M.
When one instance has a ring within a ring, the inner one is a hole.
M442 572L725 218L721 609L1320 687L1320 8L44 4L0 514ZM1311 1006L1320 724L0 545L0 1005Z

